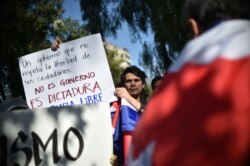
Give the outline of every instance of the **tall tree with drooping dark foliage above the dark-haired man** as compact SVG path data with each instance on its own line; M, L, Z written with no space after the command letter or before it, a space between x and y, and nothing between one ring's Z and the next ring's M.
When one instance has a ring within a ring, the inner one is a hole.
M82 19L91 33L116 36L124 21L133 40L140 39L139 32L151 30L154 41L144 44L141 64L153 73L164 73L186 41L181 26L182 4L183 0L80 0ZM154 61L149 62L150 59Z

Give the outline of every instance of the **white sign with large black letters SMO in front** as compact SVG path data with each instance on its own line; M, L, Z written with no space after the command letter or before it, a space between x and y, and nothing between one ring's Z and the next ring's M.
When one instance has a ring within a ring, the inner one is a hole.
M111 155L109 103L1 113L0 165L106 166Z

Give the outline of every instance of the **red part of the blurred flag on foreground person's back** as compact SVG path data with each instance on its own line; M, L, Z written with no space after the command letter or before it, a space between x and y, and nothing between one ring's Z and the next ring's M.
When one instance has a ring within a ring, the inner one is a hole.
M238 166L250 160L250 55L187 63L166 75L133 135L132 159L151 142L155 166Z

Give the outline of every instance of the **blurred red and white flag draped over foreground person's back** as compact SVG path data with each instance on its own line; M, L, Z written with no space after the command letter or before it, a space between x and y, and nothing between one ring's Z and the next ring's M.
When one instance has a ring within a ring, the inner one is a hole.
M250 147L250 22L190 41L150 99L128 165L243 165Z

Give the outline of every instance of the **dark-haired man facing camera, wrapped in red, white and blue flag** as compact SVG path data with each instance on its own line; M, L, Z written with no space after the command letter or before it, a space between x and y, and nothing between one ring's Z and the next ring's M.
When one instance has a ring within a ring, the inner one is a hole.
M136 66L127 67L122 75L120 86L115 95L118 101L112 103L112 126L114 128L114 154L118 164L126 162L132 133L146 105L143 88L146 85L146 74Z

